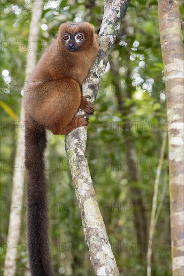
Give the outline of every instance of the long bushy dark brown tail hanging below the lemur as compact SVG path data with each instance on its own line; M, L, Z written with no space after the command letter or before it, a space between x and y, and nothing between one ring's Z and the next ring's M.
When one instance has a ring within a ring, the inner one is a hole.
M25 132L28 197L28 252L32 276L52 276L48 240L47 180L44 174L46 131L29 119Z

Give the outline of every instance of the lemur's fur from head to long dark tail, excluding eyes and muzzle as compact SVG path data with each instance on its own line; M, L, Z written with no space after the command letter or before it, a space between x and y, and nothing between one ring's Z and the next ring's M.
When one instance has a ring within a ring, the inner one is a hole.
M74 37L72 34L77 32L84 35L84 40L75 40L77 50L70 52L63 35L69 33ZM53 134L67 134L88 124L88 119L75 114L79 108L93 113L93 105L87 101L89 96L81 95L81 86L97 53L97 35L91 24L64 23L25 87L28 251L32 276L53 275L47 235L48 185L44 174L46 129Z

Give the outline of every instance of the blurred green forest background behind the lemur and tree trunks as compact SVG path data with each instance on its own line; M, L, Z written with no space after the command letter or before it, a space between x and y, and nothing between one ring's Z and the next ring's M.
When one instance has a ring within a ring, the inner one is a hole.
M21 3L21 5L20 5ZM169 2L165 2L167 5ZM182 4L182 3L181 3ZM20 8L22 7L22 8ZM5 258L13 168L25 79L30 1L1 2L1 271ZM181 14L183 6L181 5ZM100 0L45 1L37 58L66 21L101 25ZM4 43L3 43L4 42ZM168 45L165 45L167 51ZM87 127L87 156L100 210L120 273L146 274L148 230L156 172L161 172L152 275L171 275L166 89L157 1L131 1ZM49 237L55 275L93 275L88 246L64 149L64 136L48 133ZM24 188L25 190L25 188ZM21 211L17 276L27 267L26 195Z

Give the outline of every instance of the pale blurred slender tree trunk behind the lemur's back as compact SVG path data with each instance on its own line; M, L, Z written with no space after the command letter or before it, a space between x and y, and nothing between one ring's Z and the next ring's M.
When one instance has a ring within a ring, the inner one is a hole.
M30 23L29 43L31 49L28 51L26 60L26 77L27 80L30 73L36 65L36 52L34 50L34 42L38 40L38 24L41 18L41 4L40 0L37 3L37 9L32 11L32 19ZM20 237L20 224L21 224L21 206L23 201L23 187L24 187L24 170L21 169L24 163L24 109L21 108L20 115L20 131L18 132L17 149L15 155L15 167L13 172L12 183L12 196L11 196L11 208L9 218L9 228L7 236L7 250L4 263L4 276L15 275L16 273L16 257L17 257L17 245ZM16 207L17 206L17 207ZM12 250L13 247L13 250Z

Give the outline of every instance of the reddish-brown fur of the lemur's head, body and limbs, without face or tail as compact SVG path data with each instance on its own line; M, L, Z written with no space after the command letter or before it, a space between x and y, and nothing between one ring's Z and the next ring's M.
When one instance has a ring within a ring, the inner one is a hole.
M69 52L63 45L63 34L78 31L84 34L85 41L78 51ZM97 35L91 24L62 24L57 40L43 54L25 88L26 120L31 116L53 134L67 134L74 128L87 125L85 118L72 119L80 107L81 85L97 53ZM85 98L83 102L85 104L81 107L89 114L93 113L90 103ZM90 108L85 108L85 105Z

